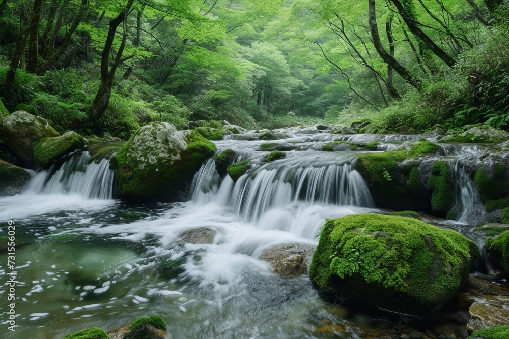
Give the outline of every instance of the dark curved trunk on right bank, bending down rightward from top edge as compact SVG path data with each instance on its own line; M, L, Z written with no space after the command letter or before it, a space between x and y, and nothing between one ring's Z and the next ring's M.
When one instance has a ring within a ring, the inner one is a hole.
M407 70L403 65L399 63L392 55L387 53L387 51L382 46L382 42L380 41L380 35L378 33L378 24L376 18L376 6L375 0L368 0L369 4L369 23L371 36L373 38L373 45L375 45L375 49L377 50L380 57L390 65L394 71L396 71L406 82L415 87L417 90L422 89L422 82L415 78L409 70Z

